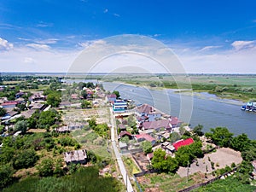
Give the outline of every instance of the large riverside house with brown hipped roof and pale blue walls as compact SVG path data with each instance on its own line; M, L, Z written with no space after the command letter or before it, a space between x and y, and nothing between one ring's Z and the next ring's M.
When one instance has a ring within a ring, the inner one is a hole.
M156 119L160 119L161 112L160 110L153 108L148 104L143 104L135 108L135 114L137 118L147 119L148 121L154 121Z

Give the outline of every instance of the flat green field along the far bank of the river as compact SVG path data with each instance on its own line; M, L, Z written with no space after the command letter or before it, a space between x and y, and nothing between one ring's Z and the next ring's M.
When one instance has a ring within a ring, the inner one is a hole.
M193 89L212 93L221 98L247 102L256 99L256 75L229 74L131 74L119 77L105 77L104 81L117 81L126 84L147 86L151 89Z

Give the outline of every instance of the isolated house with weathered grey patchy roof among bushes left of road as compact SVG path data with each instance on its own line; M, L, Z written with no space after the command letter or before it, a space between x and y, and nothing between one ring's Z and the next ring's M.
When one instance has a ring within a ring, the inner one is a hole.
M64 161L67 165L74 164L86 164L87 163L87 152L85 149L79 149L75 151L69 151L64 153Z

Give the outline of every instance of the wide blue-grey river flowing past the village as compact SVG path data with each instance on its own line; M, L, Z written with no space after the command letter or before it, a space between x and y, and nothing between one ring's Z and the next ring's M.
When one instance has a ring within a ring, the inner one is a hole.
M241 111L241 102L219 99L207 93L186 96L174 90L148 90L129 84L105 82L103 86L105 90L118 90L122 98L132 99L136 104L148 103L177 116L192 128L201 124L203 131L209 131L210 128L225 126L235 135L246 133L250 139L256 139L256 113Z

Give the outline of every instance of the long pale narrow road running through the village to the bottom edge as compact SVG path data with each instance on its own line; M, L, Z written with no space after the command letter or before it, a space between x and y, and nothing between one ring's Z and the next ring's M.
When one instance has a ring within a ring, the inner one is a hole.
M134 190L132 189L130 178L127 175L127 172L125 170L124 162L123 162L123 160L121 158L121 155L119 154L119 150L118 150L118 148L116 146L116 141L115 141L115 122L114 122L114 119L113 119L113 114L111 114L111 113L112 113L112 110L110 108L111 143L112 143L112 147L113 147L113 152L115 154L116 160L118 161L119 170L120 170L120 172L122 174L122 177L124 178L124 182L125 182L125 185L126 185L127 192L133 192Z

